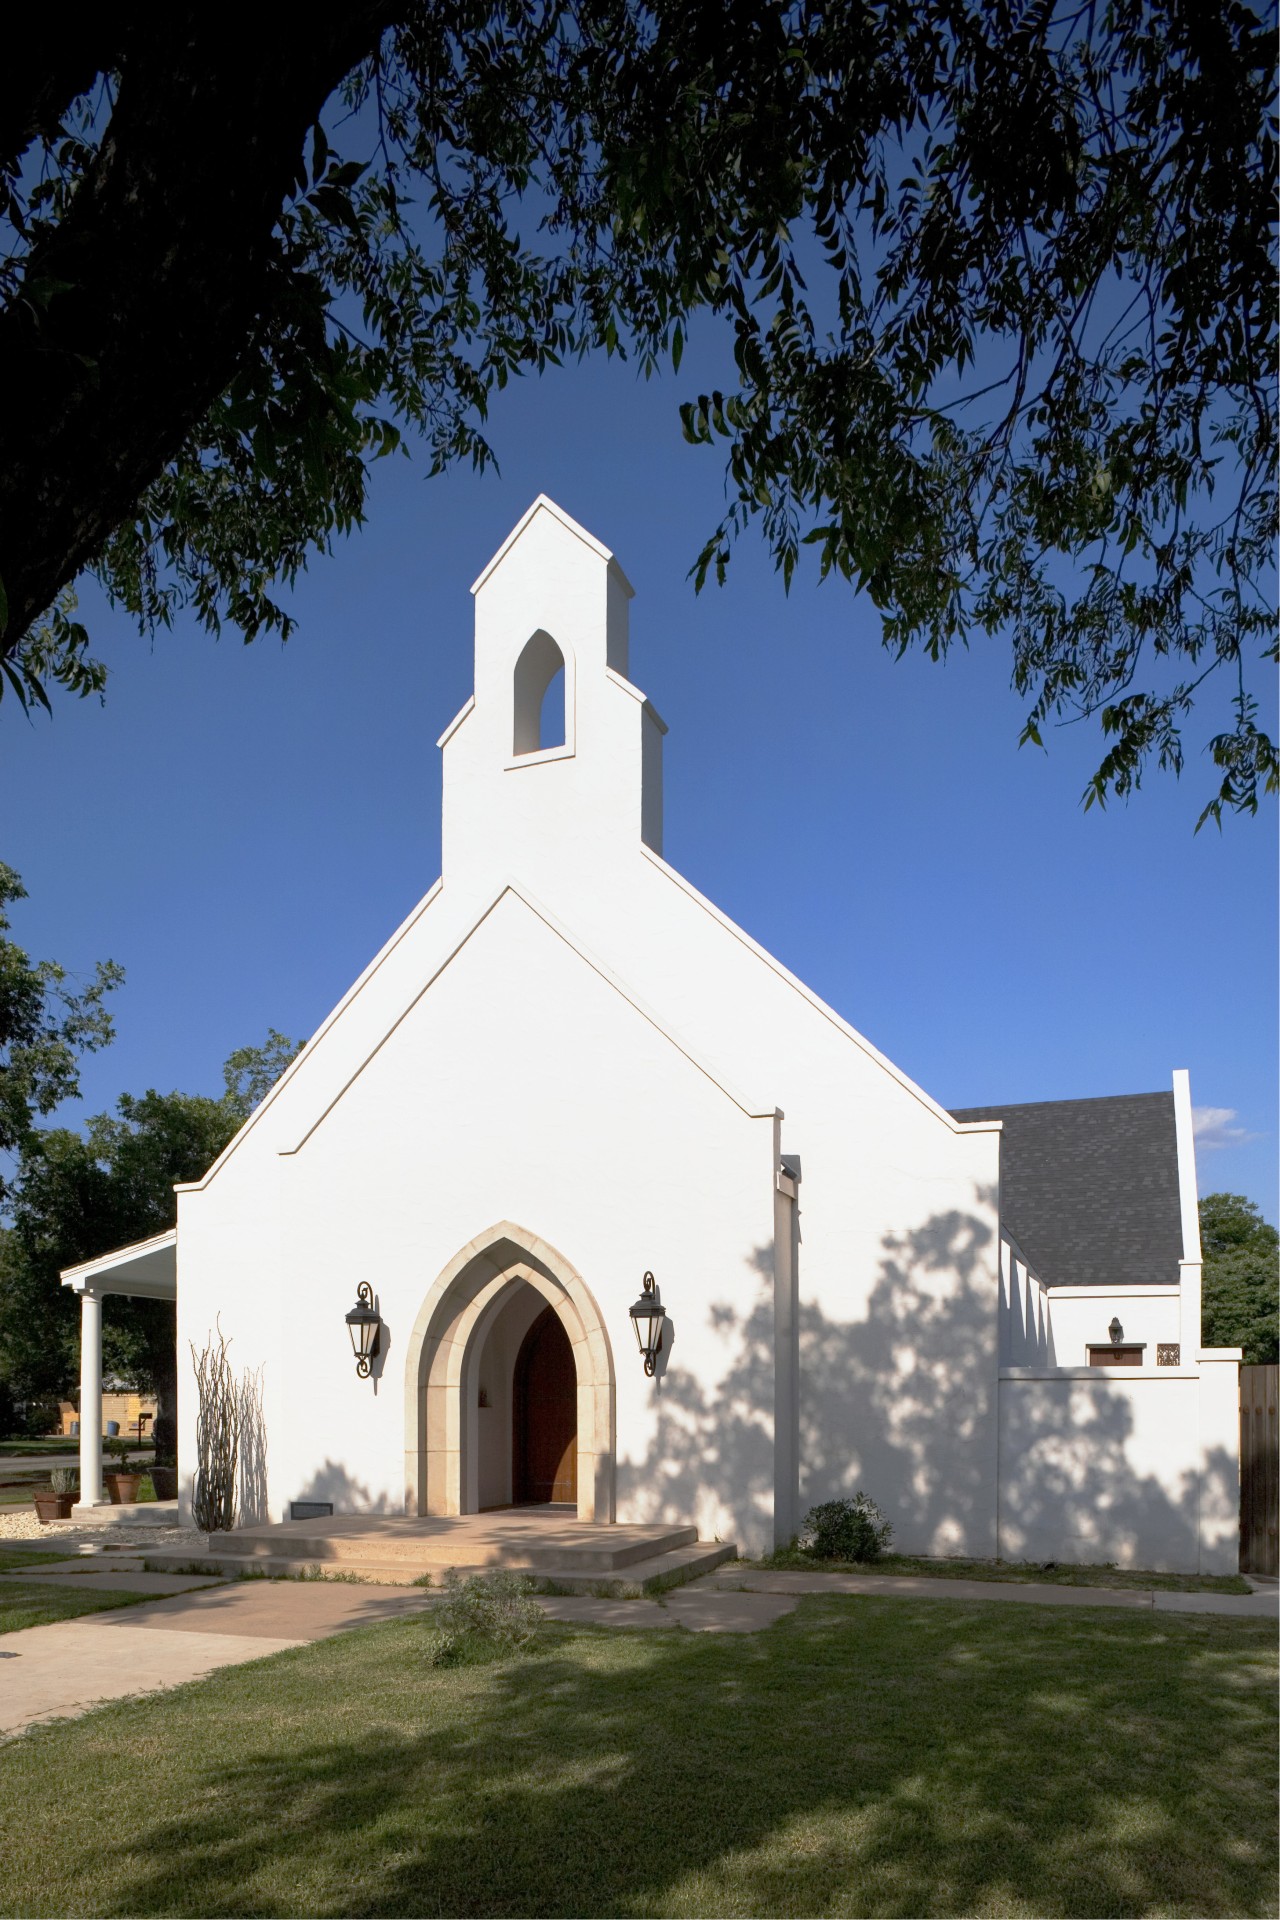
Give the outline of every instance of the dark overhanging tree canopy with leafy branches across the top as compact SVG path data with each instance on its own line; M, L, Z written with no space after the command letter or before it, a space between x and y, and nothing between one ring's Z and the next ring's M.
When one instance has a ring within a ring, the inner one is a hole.
M890 649L1011 645L1086 801L1276 785L1272 10L1238 0L449 0L33 23L0 96L0 580L19 699L144 626L290 632L282 588L403 436L589 349L735 378L695 559L760 528ZM1197 737L1197 747L1203 739Z

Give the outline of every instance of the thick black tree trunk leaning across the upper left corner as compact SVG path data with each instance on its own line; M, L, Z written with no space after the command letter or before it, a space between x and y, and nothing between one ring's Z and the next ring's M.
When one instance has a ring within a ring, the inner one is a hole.
M255 19L188 6L125 48L96 161L0 315L2 651L230 382L269 300L305 134L393 15L386 0Z

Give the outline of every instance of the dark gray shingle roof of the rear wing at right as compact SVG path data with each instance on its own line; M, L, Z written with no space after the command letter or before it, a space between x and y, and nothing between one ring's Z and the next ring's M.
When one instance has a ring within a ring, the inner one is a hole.
M1173 1092L958 1106L952 1116L1004 1121L1000 1212L1046 1286L1176 1283Z

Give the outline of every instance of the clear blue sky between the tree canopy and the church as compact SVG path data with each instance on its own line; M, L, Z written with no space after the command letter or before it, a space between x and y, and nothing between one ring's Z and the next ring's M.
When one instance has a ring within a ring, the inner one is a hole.
M1098 733L1019 751L998 643L892 660L865 601L812 576L787 597L752 543L695 597L722 463L676 407L710 371L516 384L491 417L501 474L384 461L365 532L299 584L288 647L190 624L152 645L83 593L106 708L0 708L0 856L31 895L13 937L129 973L117 1041L59 1117L221 1091L232 1046L311 1033L430 887L466 589L547 492L635 586L631 674L670 724L668 860L946 1106L1146 1092L1190 1068L1219 1116L1201 1190L1274 1219L1274 806L1192 833L1213 789L1199 726L1180 781L1084 814Z

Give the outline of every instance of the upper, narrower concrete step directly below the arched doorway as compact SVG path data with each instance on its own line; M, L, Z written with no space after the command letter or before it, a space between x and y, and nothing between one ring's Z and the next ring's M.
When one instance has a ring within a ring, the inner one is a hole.
M468 1515L470 1521L470 1515ZM276 1526L238 1526L230 1534L198 1534L201 1551L240 1561L290 1559L324 1567L382 1565L430 1572L439 1567L555 1567L589 1576L618 1572L635 1561L654 1559L693 1546L697 1526L591 1526L576 1523L549 1528L449 1526L430 1530L411 1524L370 1524L340 1530L307 1521ZM175 1551L178 1551L175 1548Z

